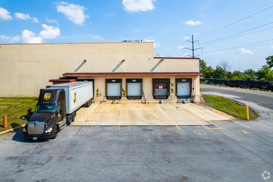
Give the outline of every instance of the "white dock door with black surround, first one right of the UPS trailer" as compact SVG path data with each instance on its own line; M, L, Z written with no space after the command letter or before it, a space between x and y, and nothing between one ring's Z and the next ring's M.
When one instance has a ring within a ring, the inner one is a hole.
M105 79L106 84L106 98L107 99L121 99L121 79Z

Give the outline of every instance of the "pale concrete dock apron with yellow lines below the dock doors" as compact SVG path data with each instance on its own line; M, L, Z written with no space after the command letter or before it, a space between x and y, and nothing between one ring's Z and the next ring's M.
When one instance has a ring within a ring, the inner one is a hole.
M154 125L159 129L180 129L182 125L202 125L207 129L221 129L218 121L233 119L236 118L194 103L93 103L77 111L71 125L119 126L119 129Z

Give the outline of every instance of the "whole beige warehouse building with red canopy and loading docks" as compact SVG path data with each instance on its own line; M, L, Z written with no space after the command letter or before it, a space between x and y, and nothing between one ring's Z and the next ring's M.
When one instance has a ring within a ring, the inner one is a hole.
M199 59L154 57L153 42L0 44L0 97L94 81L93 102L198 102Z

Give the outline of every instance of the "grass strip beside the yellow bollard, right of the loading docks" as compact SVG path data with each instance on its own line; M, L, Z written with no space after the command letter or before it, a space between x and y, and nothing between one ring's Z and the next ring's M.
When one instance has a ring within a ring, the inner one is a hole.
M237 118L246 118L245 114L245 106L240 106L238 104L234 104L233 101L218 97L218 96L211 96L211 95L204 95L206 98L213 99L213 108L222 111L224 113L227 113L229 115L233 115ZM208 104L210 106L210 104ZM248 111L249 119L253 119L258 117L258 113L254 112L253 110L249 109Z

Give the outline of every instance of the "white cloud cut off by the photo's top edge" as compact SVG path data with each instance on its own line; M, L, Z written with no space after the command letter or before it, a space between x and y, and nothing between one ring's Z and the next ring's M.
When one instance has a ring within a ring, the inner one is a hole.
M150 11L156 8L153 5L156 0L123 0L122 5L127 13L134 13L137 11Z

